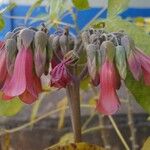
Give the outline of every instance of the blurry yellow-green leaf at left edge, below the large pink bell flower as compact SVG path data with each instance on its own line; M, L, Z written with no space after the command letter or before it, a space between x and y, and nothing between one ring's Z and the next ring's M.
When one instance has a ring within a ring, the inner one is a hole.
M0 100L0 116L16 115L23 107L23 103L19 98L14 98L11 101Z

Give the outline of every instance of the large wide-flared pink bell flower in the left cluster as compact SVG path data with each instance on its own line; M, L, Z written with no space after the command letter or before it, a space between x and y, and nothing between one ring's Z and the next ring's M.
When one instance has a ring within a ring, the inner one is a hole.
M41 82L33 72L32 50L22 48L17 54L13 75L3 87L3 92L7 97L19 96L25 103L32 103L41 91Z

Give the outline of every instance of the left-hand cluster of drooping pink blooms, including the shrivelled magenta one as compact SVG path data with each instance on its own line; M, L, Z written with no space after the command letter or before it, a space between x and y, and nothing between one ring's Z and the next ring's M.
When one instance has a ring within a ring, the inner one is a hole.
M43 91L41 76L48 75L50 68L50 86L63 88L71 82L67 66L77 57L66 46L66 40L72 40L67 31L48 35L45 27L18 27L6 34L0 42L0 89L4 100L18 96L27 104L33 103Z

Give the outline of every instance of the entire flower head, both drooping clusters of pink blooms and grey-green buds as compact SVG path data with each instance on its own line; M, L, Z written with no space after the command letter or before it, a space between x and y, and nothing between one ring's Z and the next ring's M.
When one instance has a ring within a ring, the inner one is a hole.
M123 31L104 29L83 31L73 38L68 28L49 35L48 30L19 27L0 42L0 89L3 99L18 96L33 103L43 91L41 76L50 74L50 86L66 88L81 80L72 74L81 50L86 52L86 65L91 83L100 88L97 110L115 113L120 105L117 90L130 71L137 81L150 85L150 56L145 55ZM84 69L83 69L84 70ZM78 71L79 72L79 71ZM79 81L78 80L78 81Z

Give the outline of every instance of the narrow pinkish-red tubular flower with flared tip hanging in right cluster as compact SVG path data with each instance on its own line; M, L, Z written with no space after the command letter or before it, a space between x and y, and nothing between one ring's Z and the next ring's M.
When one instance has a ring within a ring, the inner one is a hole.
M97 110L105 115L114 114L119 108L116 89L120 87L120 79L114 64L105 60L100 71L100 98Z

